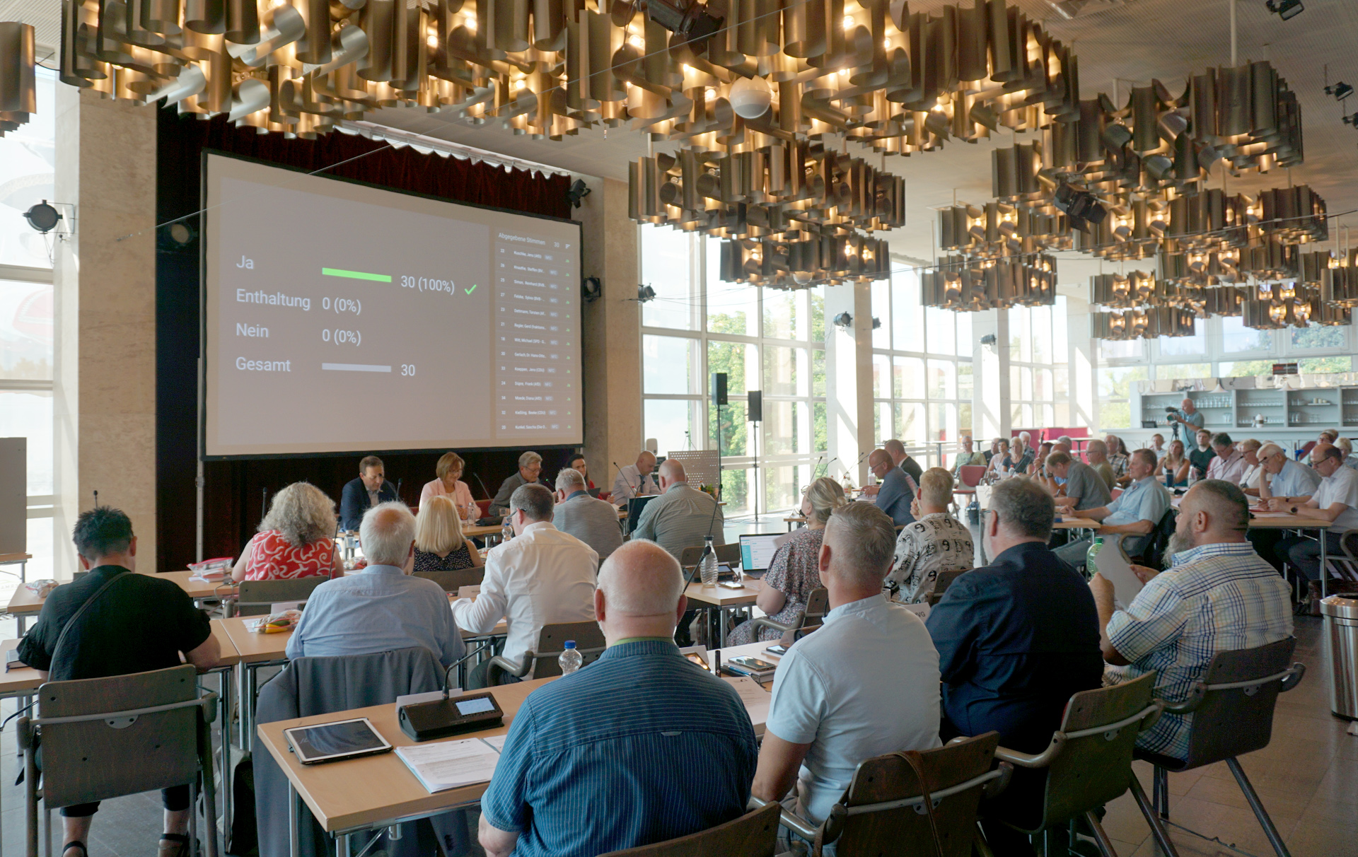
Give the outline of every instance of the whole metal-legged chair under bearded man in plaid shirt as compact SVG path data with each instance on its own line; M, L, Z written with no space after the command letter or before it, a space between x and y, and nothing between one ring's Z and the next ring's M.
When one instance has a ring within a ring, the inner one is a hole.
M1192 721L1188 727L1188 758L1137 751L1138 759L1154 765L1154 811L1160 819L1169 820L1169 771L1181 773L1225 762L1274 852L1278 857L1287 857L1287 846L1249 784L1238 756L1268 746L1278 694L1296 687L1306 674L1305 664L1290 664L1296 646L1297 638L1287 637L1253 649L1218 652L1186 699L1164 704L1167 714L1192 714Z

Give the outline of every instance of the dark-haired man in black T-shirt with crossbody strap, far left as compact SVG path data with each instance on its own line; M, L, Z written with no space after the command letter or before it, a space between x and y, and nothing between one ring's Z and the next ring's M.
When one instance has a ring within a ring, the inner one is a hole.
M217 665L221 649L208 614L187 594L155 575L134 575L137 536L132 522L111 507L81 512L72 532L80 566L90 572L57 587L42 604L38 623L19 641L19 659L48 680L107 678L178 667L179 655L200 671ZM107 588L105 588L107 585ZM75 625L76 611L90 604ZM57 652L57 641L65 632ZM54 655L60 657L53 659ZM164 807L162 854L187 854L189 786L160 792ZM61 854L87 857L90 826L99 804L61 809Z

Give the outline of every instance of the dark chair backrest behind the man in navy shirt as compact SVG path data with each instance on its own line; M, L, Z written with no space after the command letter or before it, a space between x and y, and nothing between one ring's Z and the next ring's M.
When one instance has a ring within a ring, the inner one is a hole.
M1118 729L1103 729L1126 721L1150 706L1156 689L1156 674L1084 690L1070 697L1061 723L1065 735L1097 729L1082 737L1067 737L1057 758L1047 769L1046 799L1043 801L1043 830L1062 824L1085 809L1112 801L1127 790L1131 777L1131 754L1137 747L1139 723Z

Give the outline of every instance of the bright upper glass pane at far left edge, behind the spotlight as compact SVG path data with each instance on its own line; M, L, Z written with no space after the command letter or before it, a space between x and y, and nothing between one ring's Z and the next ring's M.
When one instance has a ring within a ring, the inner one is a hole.
M34 232L23 219L30 206L42 200L56 200L56 76L38 68L35 83L38 111L0 137L0 265L52 268L48 244L53 236ZM69 217L71 211L64 209L62 216ZM69 227L69 223L64 224L62 231ZM31 568L29 580L35 580Z

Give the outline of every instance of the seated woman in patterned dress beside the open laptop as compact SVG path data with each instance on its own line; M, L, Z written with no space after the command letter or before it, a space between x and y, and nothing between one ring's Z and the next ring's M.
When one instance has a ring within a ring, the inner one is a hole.
M807 608L811 591L820 588L820 539L826 535L826 522L835 509L845 505L845 489L830 477L820 477L801 496L801 513L807 526L782 543L769 562L763 576L763 589L755 606L774 622L792 622ZM782 634L771 627L759 627L759 640L777 640ZM727 645L755 641L755 625L744 622L727 636Z

